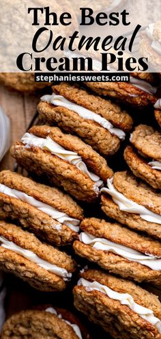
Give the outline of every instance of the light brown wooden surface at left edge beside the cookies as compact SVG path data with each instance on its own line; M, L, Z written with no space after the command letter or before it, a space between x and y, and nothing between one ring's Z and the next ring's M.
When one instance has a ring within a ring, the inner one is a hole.
M35 113L40 95L21 95L11 92L7 88L0 86L0 106L10 118L11 133L10 145L16 140L20 140L26 131L29 123ZM0 163L0 171L3 169L13 169L14 160L10 156L10 152Z

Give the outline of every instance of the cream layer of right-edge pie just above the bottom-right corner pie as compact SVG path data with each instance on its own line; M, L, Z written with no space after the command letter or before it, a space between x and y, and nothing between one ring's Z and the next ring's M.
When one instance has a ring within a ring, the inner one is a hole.
M82 232L79 235L79 240L84 244L92 245L93 249L100 249L102 251L109 251L121 257L126 258L132 262L138 262L139 264L148 266L153 271L161 271L161 259L156 258L153 255L145 255L141 252L130 249L129 247L117 244L104 238L96 238L91 234Z

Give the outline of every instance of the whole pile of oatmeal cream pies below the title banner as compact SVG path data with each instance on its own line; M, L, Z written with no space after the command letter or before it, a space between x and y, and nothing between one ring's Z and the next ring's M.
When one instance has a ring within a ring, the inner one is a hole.
M72 288L78 317L114 339L161 339L161 303L148 292L161 284L157 86L149 73L54 84L38 104L41 124L11 148L28 175L0 173L0 269L42 292ZM89 332L52 303L13 314L1 338Z

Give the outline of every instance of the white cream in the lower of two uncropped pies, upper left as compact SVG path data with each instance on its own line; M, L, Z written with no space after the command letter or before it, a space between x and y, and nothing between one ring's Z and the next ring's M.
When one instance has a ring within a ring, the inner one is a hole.
M81 172L85 173L92 181L94 181L95 186L100 187L103 184L103 181L100 180L98 175L91 173L88 171L85 162L83 162L80 155L76 152L68 151L61 147L61 145L57 144L54 140L50 137L47 138L39 138L38 136L34 136L30 133L25 133L23 138L21 139L23 144L26 147L36 146L40 147L40 149L47 149L50 153L57 155L57 157L70 162L80 170Z

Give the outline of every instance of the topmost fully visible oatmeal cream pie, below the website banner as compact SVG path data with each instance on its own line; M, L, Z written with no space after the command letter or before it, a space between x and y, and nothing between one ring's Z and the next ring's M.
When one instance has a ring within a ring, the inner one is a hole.
M132 128L131 116L119 105L67 83L53 86L53 95L41 98L38 111L47 123L78 134L104 155L116 153Z

